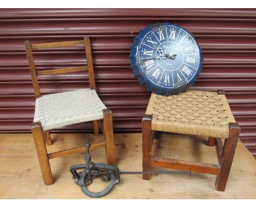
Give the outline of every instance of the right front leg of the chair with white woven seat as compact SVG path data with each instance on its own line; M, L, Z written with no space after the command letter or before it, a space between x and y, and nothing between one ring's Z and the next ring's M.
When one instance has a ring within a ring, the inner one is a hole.
M110 109L103 109L103 134L106 142L106 157L107 163L115 165L115 151L114 151L114 136L113 136L113 121L112 111Z

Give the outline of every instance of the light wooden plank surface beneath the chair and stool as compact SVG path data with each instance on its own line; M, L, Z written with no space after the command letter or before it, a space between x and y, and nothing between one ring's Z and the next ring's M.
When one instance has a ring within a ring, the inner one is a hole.
M162 134L154 140L153 155L197 162L218 163L214 147L205 138ZM95 142L103 137L93 134L53 134L49 152ZM115 134L115 153L120 170L139 171L142 163L141 134ZM105 162L104 148L91 151L92 161ZM0 134L0 198L5 199L88 199L69 173L73 164L84 163L84 154L51 160L55 183L45 186L40 173L31 134ZM153 175L144 181L141 175L121 175L121 182L105 199L213 199L256 198L256 161L241 142L238 143L225 192L214 188L216 176L193 173ZM94 186L95 185L95 186ZM91 191L100 191L105 183L96 180Z

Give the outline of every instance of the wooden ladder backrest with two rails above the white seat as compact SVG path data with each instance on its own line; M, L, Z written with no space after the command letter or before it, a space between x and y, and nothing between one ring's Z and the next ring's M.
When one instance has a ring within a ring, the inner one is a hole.
M85 46L85 58L87 60L87 65L72 67L72 68L36 71L32 50L38 49L38 48L55 48L55 47L78 46L78 45ZM88 70L90 88L95 89L94 67L92 65L91 45L90 45L90 39L88 36L85 36L84 40L80 40L80 41L50 42L46 44L31 44L29 40L26 40L25 47L26 47L28 65L30 68L30 74L32 77L34 94L36 95L36 98L41 96L37 76L42 76L42 75L57 75L57 74L64 74L69 72Z

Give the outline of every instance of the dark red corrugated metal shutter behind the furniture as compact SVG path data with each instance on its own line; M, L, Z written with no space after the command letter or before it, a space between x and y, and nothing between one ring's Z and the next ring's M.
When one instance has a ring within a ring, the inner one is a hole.
M80 40L89 35L96 87L114 113L115 132L141 129L149 93L129 68L130 46L139 30L172 22L192 32L204 62L193 89L224 89L242 127L241 140L256 156L255 9L2 9L0 13L0 132L30 132L34 94L24 41ZM82 47L40 50L39 69L83 65ZM40 78L44 94L88 86L83 72ZM89 123L59 131L91 131Z

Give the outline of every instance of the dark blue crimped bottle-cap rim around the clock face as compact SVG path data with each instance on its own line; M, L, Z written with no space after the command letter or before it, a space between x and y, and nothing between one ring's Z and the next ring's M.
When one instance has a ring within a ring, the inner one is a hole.
M179 88L174 88L174 89L169 89L169 90L167 90L161 86L156 87L155 84L152 83L147 78L147 76L144 74L144 72L139 67L138 58L136 56L137 52L138 52L138 45L144 38L144 35L147 34L147 32L149 32L150 30L154 29L155 27L160 27L163 25L176 26L176 27L179 27L179 28L185 30L185 32L187 32L188 34L190 34L193 37L194 41L196 42L197 46L199 47L199 53L200 53L199 68L196 71L196 74L194 75L195 78L191 79L191 82L185 83ZM131 63L130 68L133 71L133 75L138 79L139 84L142 85L143 87L145 87L147 89L147 91L149 91L149 92L153 91L157 95L165 95L165 96L178 95L179 93L187 91L187 89L189 87L194 85L196 79L199 78L200 71L202 70L203 56L202 56L202 50L201 50L201 47L199 46L198 41L195 39L194 35L191 32L189 32L187 29L185 29L184 27L181 27L177 24L170 23L170 22L162 22L162 23L157 22L153 25L147 25L145 28L139 30L138 35L133 39L133 43L130 47L130 51L131 51L130 56L129 56L130 63Z

